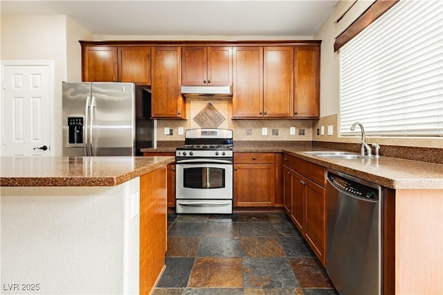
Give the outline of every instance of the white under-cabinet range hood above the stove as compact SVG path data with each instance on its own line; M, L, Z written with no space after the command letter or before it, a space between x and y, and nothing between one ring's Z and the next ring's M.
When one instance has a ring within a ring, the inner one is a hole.
M230 99L233 87L229 86L182 86L181 94L188 99Z

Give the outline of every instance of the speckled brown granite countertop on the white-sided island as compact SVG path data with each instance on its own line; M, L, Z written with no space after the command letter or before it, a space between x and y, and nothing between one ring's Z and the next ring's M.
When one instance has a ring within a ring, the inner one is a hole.
M118 186L174 157L0 157L0 186Z

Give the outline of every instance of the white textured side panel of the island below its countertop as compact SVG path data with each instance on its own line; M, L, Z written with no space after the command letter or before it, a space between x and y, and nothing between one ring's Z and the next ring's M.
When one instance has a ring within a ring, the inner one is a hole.
M138 177L0 189L2 294L138 294Z

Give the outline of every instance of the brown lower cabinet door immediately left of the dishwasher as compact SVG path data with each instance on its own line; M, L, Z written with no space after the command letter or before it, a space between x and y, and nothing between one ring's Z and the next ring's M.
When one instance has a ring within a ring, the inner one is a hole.
M325 265L326 249L326 190L306 179L305 238Z

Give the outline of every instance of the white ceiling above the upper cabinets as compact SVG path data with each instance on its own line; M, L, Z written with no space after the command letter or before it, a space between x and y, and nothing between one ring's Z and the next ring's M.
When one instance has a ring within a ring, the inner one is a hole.
M312 36L336 0L17 1L1 15L68 15L94 35Z

